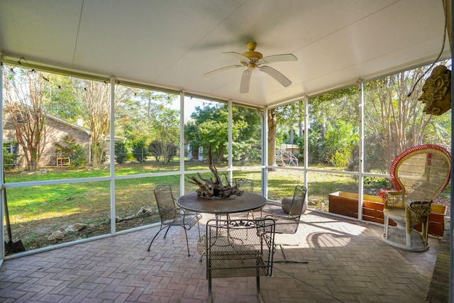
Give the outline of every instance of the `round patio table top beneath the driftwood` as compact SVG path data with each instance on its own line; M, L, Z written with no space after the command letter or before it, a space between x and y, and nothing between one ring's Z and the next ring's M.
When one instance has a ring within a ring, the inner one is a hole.
M182 209L205 214L232 214L251 211L265 206L266 202L265 197L252 192L245 192L241 196L231 196L226 199L217 197L205 199L197 196L196 192L191 192L177 199L177 205Z

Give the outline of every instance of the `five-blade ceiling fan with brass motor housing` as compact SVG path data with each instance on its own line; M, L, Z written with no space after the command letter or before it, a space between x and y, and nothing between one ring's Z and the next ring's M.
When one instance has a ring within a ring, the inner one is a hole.
M207 72L205 76L213 75L216 74L216 72L222 72L223 70L230 70L231 68L248 67L247 70L243 72L243 76L241 77L240 83L241 94L249 92L250 75L252 74L253 70L255 70L255 67L258 67L258 69L261 70L262 72L265 72L271 77L275 78L277 82L282 84L284 87L288 87L290 84L292 84L292 81L290 81L280 72L278 72L272 67L262 64L282 61L297 61L298 60L297 57L295 57L292 54L271 55L263 57L261 53L255 51L257 43L250 42L246 46L248 47L248 51L243 54L235 52L223 52L223 54L232 55L233 57L237 57L238 59L240 59L240 65L228 65L226 67L221 67L218 68L217 70Z

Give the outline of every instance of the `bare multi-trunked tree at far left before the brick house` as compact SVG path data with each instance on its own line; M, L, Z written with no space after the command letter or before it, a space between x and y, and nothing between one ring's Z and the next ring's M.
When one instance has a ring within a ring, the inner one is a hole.
M4 72L6 111L23 148L28 169L36 170L45 147L45 116L50 90L44 74L15 68Z

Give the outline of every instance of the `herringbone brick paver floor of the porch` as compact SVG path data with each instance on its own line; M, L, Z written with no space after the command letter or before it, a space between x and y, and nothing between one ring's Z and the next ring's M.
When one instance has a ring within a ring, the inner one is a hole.
M209 219L204 215L203 222ZM11 258L0 268L0 302L207 302L198 232L158 226ZM201 225L204 228L204 225ZM294 235L277 235L289 259L261 278L265 302L426 302L440 244L423 253L382 242L382 226L307 211ZM275 258L282 258L277 250ZM255 278L213 280L214 302L258 302Z

